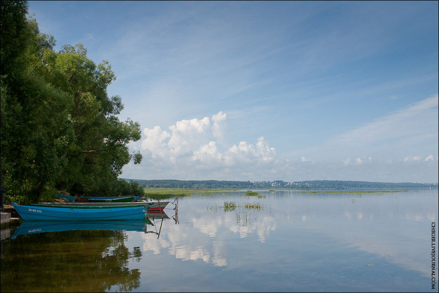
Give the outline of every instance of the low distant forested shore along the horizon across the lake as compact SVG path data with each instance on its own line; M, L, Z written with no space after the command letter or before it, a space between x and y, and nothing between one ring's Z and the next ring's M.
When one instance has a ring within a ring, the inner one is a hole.
M385 189L385 188L438 188L438 183L386 183L367 181L312 180L276 181L218 181L218 180L142 180L135 181L143 188L180 189Z

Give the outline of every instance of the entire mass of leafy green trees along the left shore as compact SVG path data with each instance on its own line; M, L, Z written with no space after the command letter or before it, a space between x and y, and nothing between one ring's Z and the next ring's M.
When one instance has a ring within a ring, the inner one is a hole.
M82 44L54 51L26 1L1 1L1 185L9 200L35 202L47 186L84 195L142 194L118 180L130 160L127 144L140 125L117 117L116 77L108 61L96 63ZM8 199L7 198L7 199Z

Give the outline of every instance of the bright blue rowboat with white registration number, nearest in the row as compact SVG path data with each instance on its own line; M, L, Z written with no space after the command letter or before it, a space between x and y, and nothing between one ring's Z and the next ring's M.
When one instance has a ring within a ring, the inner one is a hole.
M148 206L119 207L75 206L69 208L24 206L12 203L23 220L36 221L96 221L96 220L140 220L144 219Z

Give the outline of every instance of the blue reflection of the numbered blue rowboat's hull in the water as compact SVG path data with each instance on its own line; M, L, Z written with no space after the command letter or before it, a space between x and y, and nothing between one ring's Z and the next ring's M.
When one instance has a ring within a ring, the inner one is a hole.
M132 221L22 221L11 238L19 235L70 230L146 231L145 220Z

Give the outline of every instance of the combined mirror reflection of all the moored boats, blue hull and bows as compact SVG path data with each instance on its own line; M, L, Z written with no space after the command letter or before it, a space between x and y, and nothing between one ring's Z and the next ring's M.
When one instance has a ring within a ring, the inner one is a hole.
M177 213L176 213L177 214ZM175 216L172 216L176 219ZM30 221L24 220L15 230L11 238L19 235L37 234L47 232L60 232L70 230L110 230L110 231L140 231L144 233L156 233L160 236L163 220L170 219L165 212L146 213L142 220L107 220L107 221ZM157 231L158 222L160 228ZM177 223L177 220L176 220ZM152 227L148 227L152 226Z

